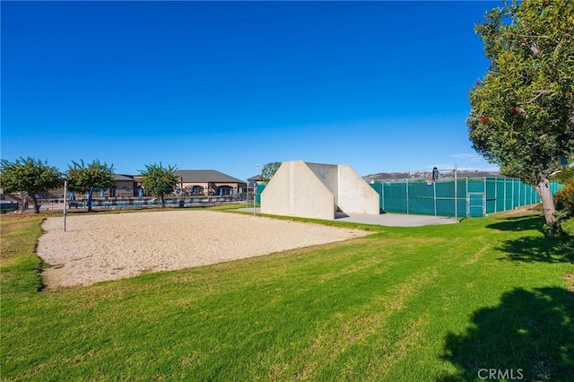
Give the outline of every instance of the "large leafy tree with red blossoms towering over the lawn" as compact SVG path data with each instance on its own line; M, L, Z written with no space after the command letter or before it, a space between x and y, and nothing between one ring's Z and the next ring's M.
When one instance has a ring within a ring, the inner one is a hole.
M503 174L535 188L552 233L550 176L574 152L574 2L503 5L475 27L491 65L469 93L469 138Z

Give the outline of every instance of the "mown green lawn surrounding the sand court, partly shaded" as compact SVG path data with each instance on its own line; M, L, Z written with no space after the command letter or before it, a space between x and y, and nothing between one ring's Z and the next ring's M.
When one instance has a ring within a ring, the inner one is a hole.
M574 246L539 216L382 227L63 291L39 291L40 221L1 221L2 380L574 375Z

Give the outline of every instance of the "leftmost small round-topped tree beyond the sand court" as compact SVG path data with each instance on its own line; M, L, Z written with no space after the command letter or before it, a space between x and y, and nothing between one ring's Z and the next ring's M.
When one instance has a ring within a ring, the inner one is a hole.
M26 193L32 200L34 212L39 213L36 194L46 192L64 184L62 173L48 162L30 157L16 161L0 161L0 185L7 192Z

